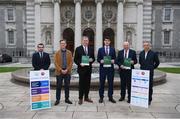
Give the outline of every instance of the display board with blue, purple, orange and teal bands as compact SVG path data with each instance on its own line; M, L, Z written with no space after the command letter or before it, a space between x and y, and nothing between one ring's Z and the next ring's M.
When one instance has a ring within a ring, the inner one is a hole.
M51 108L49 70L30 71L31 110Z

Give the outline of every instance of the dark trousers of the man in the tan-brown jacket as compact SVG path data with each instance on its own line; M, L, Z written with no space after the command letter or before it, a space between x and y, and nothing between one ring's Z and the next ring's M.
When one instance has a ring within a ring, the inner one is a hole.
M61 88L62 88L63 80L64 80L65 99L69 98L70 79L71 79L70 74L56 76L56 81L57 81L56 82L56 100L60 100L61 98Z

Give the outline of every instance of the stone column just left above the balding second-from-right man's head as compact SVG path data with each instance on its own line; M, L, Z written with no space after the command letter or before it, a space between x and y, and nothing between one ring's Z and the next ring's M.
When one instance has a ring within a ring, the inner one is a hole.
M116 38L116 49L122 49L123 41L124 41L124 32L123 32L123 0L117 0L118 3L118 11L117 11L117 38Z

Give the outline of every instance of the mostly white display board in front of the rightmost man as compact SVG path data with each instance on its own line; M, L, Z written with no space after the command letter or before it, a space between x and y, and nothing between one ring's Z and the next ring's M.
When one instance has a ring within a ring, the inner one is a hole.
M149 74L148 70L132 70L131 75L131 104L148 108Z

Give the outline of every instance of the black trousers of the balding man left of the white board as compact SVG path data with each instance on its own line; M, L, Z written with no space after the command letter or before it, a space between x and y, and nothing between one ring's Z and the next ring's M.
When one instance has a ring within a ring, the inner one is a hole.
M125 98L126 96L126 88L128 89L128 100L131 98L131 70L120 71L121 78L121 97Z

